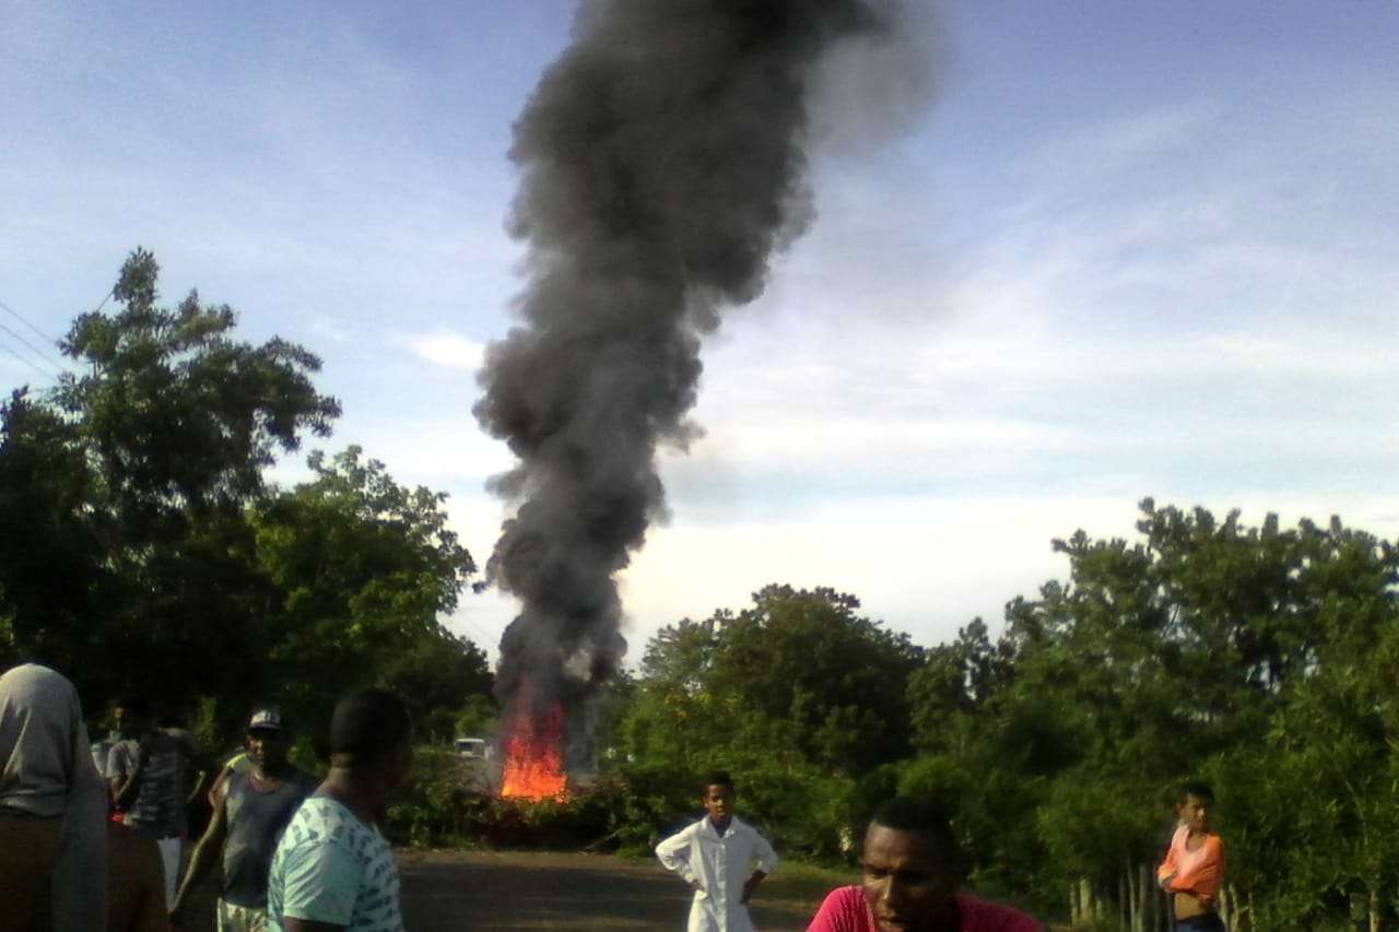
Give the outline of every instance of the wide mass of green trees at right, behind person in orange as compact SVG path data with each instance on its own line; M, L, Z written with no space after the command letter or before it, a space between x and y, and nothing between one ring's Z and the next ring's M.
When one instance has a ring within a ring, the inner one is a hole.
M929 652L901 785L953 800L985 886L1140 922L1171 792L1205 775L1233 908L1378 928L1399 879L1395 549L1151 500L1137 530L1053 542L1067 581L1010 602L995 645L970 626Z

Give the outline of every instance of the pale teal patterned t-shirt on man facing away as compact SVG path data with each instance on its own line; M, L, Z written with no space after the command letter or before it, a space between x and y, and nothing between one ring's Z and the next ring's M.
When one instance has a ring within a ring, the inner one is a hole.
M334 799L311 796L291 817L271 858L267 924L283 917L348 932L403 932L399 869L379 830Z

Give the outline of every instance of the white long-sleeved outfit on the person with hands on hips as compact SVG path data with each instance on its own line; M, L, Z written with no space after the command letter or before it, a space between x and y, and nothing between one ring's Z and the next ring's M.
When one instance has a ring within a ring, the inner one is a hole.
M757 828L733 817L723 837L705 816L656 845L666 870L686 883L698 883L690 904L688 932L753 932L753 919L743 898L753 862L772 873L778 855Z

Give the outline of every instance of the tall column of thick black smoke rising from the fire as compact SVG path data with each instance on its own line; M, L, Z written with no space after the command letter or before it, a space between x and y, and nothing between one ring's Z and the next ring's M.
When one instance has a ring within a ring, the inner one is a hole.
M625 652L614 574L665 515L660 445L686 421L700 337L761 294L811 217L809 91L824 53L891 28L859 0L585 0L515 125L511 231L522 326L491 346L476 407L519 466L490 561L523 610L501 641L571 719ZM578 722L571 721L576 729Z

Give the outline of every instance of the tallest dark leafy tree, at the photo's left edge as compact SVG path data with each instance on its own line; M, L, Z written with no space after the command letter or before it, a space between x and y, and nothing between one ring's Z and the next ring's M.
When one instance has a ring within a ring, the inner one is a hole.
M6 535L22 544L0 567L15 651L70 672L90 704L257 682L267 593L242 509L276 453L340 410L311 382L315 355L236 340L234 311L193 291L162 308L158 278L133 252L118 308L78 316L60 344L81 374L3 410L0 509L28 532Z

